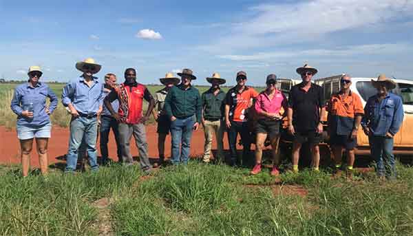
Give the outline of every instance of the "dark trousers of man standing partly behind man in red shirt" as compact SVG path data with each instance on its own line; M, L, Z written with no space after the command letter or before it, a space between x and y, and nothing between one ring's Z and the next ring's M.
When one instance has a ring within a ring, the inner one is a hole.
M116 151L119 162L122 162L122 155L120 153L118 122L112 116L100 116L100 154L102 154L102 163L107 162L107 142L109 142L109 132L112 128L116 141Z

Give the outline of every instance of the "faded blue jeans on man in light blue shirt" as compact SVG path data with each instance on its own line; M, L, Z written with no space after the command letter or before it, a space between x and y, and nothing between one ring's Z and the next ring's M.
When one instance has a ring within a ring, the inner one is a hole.
M82 138L85 136L85 144L87 145L87 157L89 159L90 168L92 171L99 168L96 160L96 136L98 134L98 119L96 117L87 118L81 117L72 119L70 122L70 139L69 150L66 156L65 171L72 172L76 170L78 159L78 149L81 146Z

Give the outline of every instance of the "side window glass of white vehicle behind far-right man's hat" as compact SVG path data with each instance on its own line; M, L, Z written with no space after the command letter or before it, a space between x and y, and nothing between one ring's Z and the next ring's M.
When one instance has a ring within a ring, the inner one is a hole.
M368 100L374 94L377 94L377 90L373 87L370 81L359 81L356 83L357 90L363 98ZM396 88L391 91L394 94L401 96L403 105L413 105L413 85L407 83L397 83Z

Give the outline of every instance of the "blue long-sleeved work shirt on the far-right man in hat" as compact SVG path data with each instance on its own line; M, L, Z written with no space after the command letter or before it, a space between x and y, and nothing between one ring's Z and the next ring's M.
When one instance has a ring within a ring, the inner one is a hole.
M403 122L403 101L400 96L388 93L381 102L377 95L368 98L364 107L363 127L370 127L374 136L395 135Z

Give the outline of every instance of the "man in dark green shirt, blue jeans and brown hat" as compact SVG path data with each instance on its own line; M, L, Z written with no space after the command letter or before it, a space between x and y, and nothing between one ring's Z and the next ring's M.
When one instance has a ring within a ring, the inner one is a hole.
M181 83L165 98L165 112L171 120L172 164L188 164L192 131L198 130L202 116L201 96L191 85L196 79L191 69L182 69ZM181 147L180 147L181 146Z

